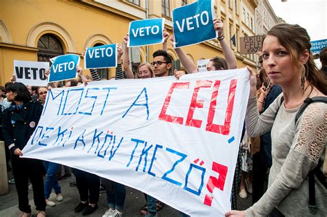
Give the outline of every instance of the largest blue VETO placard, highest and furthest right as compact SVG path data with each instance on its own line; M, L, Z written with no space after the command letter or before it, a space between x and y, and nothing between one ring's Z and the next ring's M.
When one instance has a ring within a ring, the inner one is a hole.
M213 0L199 0L172 10L175 48L218 37L213 25Z

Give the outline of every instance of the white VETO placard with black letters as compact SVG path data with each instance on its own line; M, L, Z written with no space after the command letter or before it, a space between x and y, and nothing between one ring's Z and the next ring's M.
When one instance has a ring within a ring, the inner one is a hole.
M48 81L44 76L44 71L48 68L48 62L14 60L16 82L29 86L46 86Z

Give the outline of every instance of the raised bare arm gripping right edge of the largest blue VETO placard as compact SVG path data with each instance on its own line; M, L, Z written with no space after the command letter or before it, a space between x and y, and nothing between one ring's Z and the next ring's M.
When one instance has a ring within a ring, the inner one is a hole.
M224 54L224 57L226 59L227 65L228 65L228 69L237 68L237 60L236 60L235 54L232 51L232 48L230 48L230 45L224 39L225 38L224 23L220 19L216 18L213 21L213 24L214 24L215 30L218 31L217 39L221 45L221 49L223 50L223 54Z

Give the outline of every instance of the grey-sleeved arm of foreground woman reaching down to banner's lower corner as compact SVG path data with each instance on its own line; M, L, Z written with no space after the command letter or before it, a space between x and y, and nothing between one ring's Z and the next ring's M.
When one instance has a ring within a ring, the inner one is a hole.
M325 149L327 140L326 122L326 104L315 103L308 106L297 123L294 123L295 137L292 144L290 144L290 151L280 172L275 176L275 180L264 196L246 210L246 216L268 215L274 207L279 205L281 200L289 196L290 191L299 189L302 186L304 180L308 178L309 171L317 166L319 158ZM275 149L278 149L278 147L275 147ZM279 151L285 151L283 147L281 149ZM307 200L308 195L306 193L307 191L304 192L303 198L294 198L294 209L297 207L296 200ZM321 192L321 194L324 193ZM291 199L288 199L288 203L290 203ZM308 209L308 207L303 208Z

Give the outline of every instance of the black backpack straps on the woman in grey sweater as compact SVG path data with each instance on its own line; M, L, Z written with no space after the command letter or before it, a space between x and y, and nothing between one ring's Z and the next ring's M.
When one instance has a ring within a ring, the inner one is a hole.
M281 97L281 104L284 102L284 97ZM306 98L304 100L304 104L300 107L299 111L297 111L297 114L295 116L295 124L297 123L297 120L299 120L299 117L306 111L306 108L309 104L313 102L324 102L327 103L327 97L312 97L312 98ZM278 109L279 110L279 109ZM278 112L277 110L277 112ZM326 146L325 146L326 149ZM325 150L326 151L326 150ZM317 167L315 169L311 170L308 173L309 178L309 210L311 214L317 214L317 207L316 207L316 198L315 198L315 175L319 182L321 182L324 187L327 187L327 180L326 176L323 171L321 171L321 166L324 164L324 162L321 162L322 160L319 159Z

